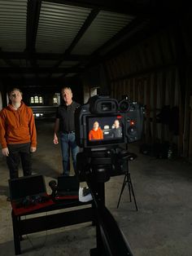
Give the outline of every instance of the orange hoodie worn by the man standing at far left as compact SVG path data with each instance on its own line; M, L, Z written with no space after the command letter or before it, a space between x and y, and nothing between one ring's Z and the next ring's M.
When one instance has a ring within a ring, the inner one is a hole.
M31 147L37 147L37 131L32 108L23 102L18 110L14 110L9 104L0 112L0 143L2 148L7 144L29 143Z

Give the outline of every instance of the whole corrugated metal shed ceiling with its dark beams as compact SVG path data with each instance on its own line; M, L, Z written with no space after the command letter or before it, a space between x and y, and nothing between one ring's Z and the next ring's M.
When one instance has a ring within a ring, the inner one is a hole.
M155 15L149 5L148 0L0 0L0 78L80 75L151 26Z

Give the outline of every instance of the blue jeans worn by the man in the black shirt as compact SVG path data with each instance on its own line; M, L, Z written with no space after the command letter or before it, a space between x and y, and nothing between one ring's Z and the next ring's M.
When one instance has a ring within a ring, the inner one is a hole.
M70 149L72 152L72 165L74 171L76 170L76 154L79 152L79 147L76 145L76 135L60 134L61 152L63 157L63 174L68 176L70 172Z

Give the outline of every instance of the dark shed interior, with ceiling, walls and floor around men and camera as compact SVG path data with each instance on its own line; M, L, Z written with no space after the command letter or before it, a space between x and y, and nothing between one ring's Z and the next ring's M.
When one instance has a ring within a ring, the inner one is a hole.
M138 211L123 176L106 185L106 205L135 256L189 256L191 246L192 35L190 4L182 1L0 0L0 110L19 87L37 114L34 174L61 170L53 144L63 86L85 104L90 96L125 95L145 109L142 139L129 143ZM41 116L42 114L42 116ZM171 157L168 155L171 151ZM169 156L169 157L168 157ZM8 171L0 157L2 255L14 255ZM23 255L89 255L91 223L24 236Z

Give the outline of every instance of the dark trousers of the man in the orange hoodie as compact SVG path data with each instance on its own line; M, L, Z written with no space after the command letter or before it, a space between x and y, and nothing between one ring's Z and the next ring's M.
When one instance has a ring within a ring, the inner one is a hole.
M32 174L32 153L30 152L30 143L9 144L9 156L7 157L7 166L10 171L10 179L19 177L20 161L24 176Z

